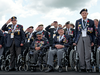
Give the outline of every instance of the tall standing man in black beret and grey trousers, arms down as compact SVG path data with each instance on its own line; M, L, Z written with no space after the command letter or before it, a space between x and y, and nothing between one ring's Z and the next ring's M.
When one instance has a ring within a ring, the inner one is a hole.
M82 18L77 20L75 25L76 37L74 45L77 45L81 71L91 72L91 46L94 45L95 27L94 22L87 18L87 9L82 9L80 14Z

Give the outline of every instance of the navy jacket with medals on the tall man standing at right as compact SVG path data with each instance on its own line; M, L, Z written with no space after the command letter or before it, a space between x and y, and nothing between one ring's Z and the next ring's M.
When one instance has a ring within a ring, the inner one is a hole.
M94 43L94 39L95 39L95 26L94 26L94 21L92 21L91 19L87 20L87 35L89 35L91 42ZM91 31L89 30L91 29ZM78 43L78 40L80 38L80 35L82 34L82 19L79 19L76 21L75 24L75 43Z

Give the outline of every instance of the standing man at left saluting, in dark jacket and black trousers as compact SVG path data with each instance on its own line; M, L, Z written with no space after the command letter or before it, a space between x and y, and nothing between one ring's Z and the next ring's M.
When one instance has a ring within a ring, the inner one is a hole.
M8 25L10 22L12 24ZM23 26L17 24L17 17L13 16L3 25L2 30L8 31L7 47L10 48L11 54L10 70L13 70L15 69L15 57L21 54L21 46L25 40Z

